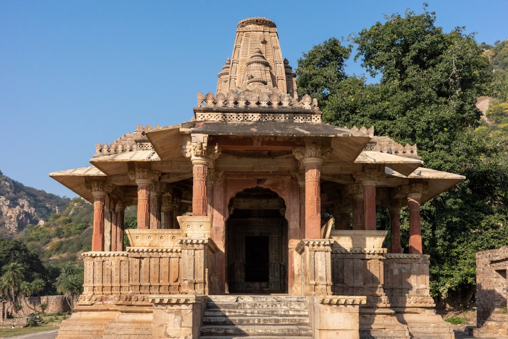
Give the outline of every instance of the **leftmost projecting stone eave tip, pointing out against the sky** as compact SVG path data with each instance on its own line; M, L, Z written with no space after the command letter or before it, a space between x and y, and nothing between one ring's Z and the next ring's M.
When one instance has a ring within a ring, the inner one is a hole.
M74 168L65 171L57 171L49 173L49 176L69 190L73 191L83 199L93 203L91 191L86 188L86 179L105 178L101 170L94 166Z

